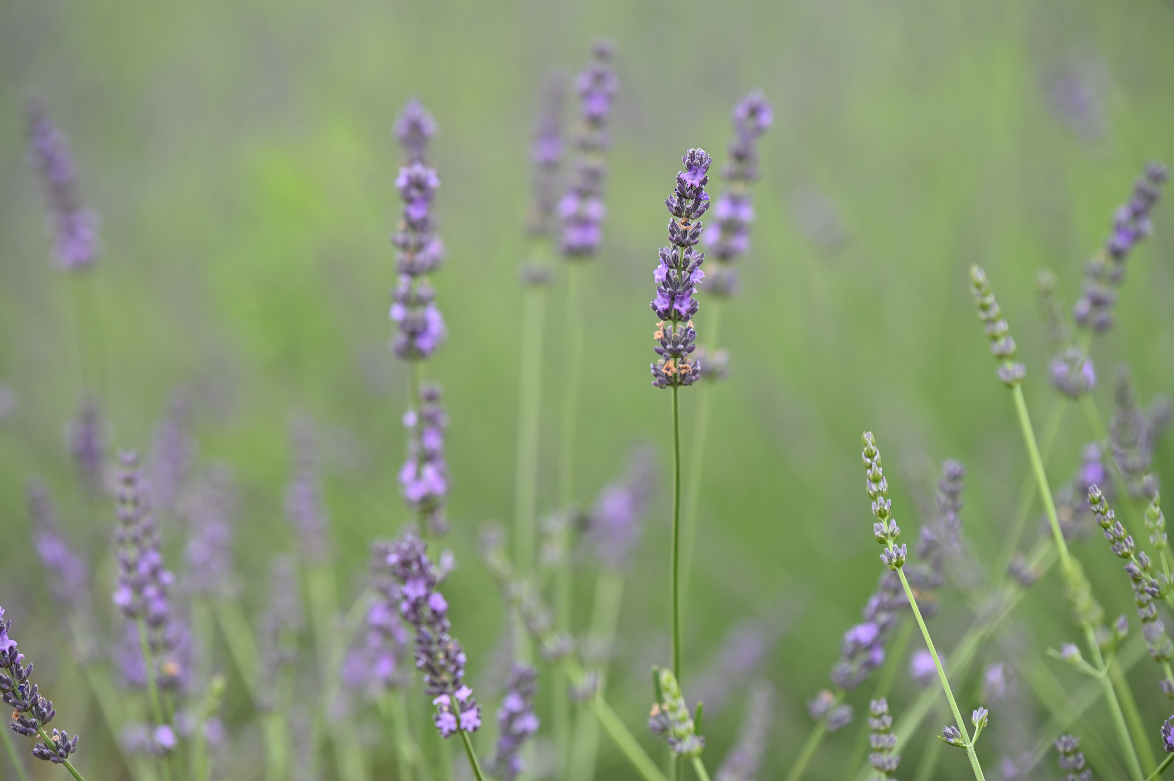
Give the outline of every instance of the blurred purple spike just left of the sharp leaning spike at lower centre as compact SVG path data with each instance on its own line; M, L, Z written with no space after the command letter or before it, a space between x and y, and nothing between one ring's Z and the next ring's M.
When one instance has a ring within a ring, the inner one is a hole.
M399 619L400 590L392 575L389 557L392 544L371 546L371 591L375 599L363 619L363 633L343 664L343 680L353 689L378 698L387 689L406 686L407 629Z

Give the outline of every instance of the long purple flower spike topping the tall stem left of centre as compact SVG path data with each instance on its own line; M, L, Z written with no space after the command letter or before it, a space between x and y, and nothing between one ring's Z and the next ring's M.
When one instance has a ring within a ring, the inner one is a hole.
M399 169L396 187L404 201L392 244L397 250L399 281L392 294L391 319L398 326L392 349L404 361L423 361L445 339L444 318L433 303L436 294L427 275L444 258L444 243L436 234L432 201L440 177L425 161L427 142L436 133L432 116L416 101L404 109L396 132L407 162Z

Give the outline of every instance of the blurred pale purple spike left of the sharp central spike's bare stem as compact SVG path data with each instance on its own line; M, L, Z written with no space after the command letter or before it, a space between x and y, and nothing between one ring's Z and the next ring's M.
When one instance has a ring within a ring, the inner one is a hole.
M656 493L656 456L637 449L628 457L623 477L603 486L587 516L587 541L603 566L623 570L636 543L640 521Z

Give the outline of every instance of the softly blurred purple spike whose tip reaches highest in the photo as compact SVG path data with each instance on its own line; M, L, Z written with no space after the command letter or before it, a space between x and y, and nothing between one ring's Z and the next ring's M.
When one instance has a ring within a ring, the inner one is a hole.
M607 120L619 80L612 70L610 45L592 47L592 62L575 79L580 99L580 124L576 144L581 152L567 194L559 201L562 221L560 247L568 258L591 258L603 242L603 180L607 166L603 152L608 146Z

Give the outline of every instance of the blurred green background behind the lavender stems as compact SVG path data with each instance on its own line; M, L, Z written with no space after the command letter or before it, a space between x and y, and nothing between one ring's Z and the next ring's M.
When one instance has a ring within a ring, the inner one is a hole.
M775 627L762 673L780 702L763 777L781 777L809 728L803 702L826 685L841 634L879 572L861 431L877 432L897 517L910 530L915 494L937 464L965 463L965 531L990 566L1027 464L966 268L981 263L991 276L1041 419L1054 391L1034 275L1051 267L1071 302L1142 164L1174 161L1172 34L1174 6L1156 0L0 5L0 382L15 397L0 418L0 602L68 714L59 719L82 733L81 769L90 781L121 777L116 762L100 763L113 756L100 747L109 736L50 608L26 482L47 482L95 566L113 514L108 504L87 512L65 445L80 398L77 328L72 280L50 265L42 190L25 153L27 96L40 96L69 134L85 197L102 217L103 255L88 282L104 343L108 439L149 449L169 399L187 393L201 459L236 476L235 551L250 613L263 601L269 556L294 547L281 494L295 419L308 416L323 433L344 595L360 586L369 540L406 519L394 482L405 377L386 349L399 160L390 127L411 96L432 109L450 249L437 288L450 339L429 372L444 383L452 418L448 540L460 566L448 598L477 682L495 664L505 626L477 559L477 528L512 514L518 271L542 79L578 70L596 36L616 43L622 92L606 245L585 275L585 504L634 444L655 446L668 474L669 396L649 388L647 370L662 200L687 147L722 161L731 106L761 87L776 121L762 141L744 292L723 317L731 373L713 399L686 678L723 661L723 638L743 619ZM1143 399L1174 391L1168 203L1154 223L1131 260L1119 324L1094 346L1104 413L1105 378L1118 364L1133 369ZM542 511L553 509L555 399L566 390L561 281L547 323ZM682 396L688 451L695 395ZM1088 438L1070 415L1048 464L1054 483L1071 476ZM1172 447L1161 444L1154 457L1167 483ZM668 653L664 485L630 575L610 689L642 736L648 665ZM181 540L171 537L174 553ZM1106 610L1132 615L1106 546L1092 539L1078 556ZM108 568L95 574L102 611L110 578ZM592 579L580 583L582 617ZM1054 575L1017 619L1037 649L1075 634ZM949 648L971 620L947 590L932 629ZM1168 705L1148 662L1131 681L1156 745ZM707 719L713 766L741 719L744 689L730 687L730 705ZM853 695L858 711L868 688ZM977 705L973 676L957 688ZM902 668L895 712L915 694ZM1030 696L1024 707L1043 716ZM224 718L241 723L229 735L243 753L255 738L248 705L230 692ZM1099 708L1089 723L1111 738ZM911 740L905 775L939 727L923 725ZM838 777L855 735L855 726L832 735L810 776ZM626 777L607 750L600 772ZM60 768L36 770L50 777ZM967 774L962 752L938 769L938 777Z

